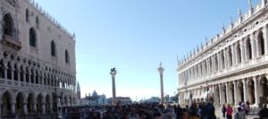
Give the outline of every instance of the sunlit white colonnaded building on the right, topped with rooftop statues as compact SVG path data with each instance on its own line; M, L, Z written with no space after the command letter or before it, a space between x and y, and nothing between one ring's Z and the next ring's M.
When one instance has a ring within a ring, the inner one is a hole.
M268 5L267 0L239 21L197 47L179 63L179 103L207 99L214 104L268 103Z

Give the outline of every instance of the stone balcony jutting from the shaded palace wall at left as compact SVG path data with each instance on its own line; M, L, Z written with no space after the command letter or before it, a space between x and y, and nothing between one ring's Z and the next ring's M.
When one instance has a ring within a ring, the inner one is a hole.
M1 41L1 43L4 46L12 47L16 51L19 51L21 49L21 42L15 38L8 36L8 35L3 35L3 39Z

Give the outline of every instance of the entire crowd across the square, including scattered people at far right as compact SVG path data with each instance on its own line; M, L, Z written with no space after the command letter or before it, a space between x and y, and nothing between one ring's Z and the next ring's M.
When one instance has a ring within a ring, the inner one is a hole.
M250 104L240 102L238 106L222 105L222 117L227 119L246 119ZM258 116L268 118L266 105L258 110ZM212 102L193 102L189 106L132 104L117 106L70 106L63 108L66 119L216 119L215 107ZM222 118L221 117L221 118Z

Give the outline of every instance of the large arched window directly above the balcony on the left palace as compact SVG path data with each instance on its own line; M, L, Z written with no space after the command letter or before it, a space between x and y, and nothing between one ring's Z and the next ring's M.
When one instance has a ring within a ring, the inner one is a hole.
M4 35L13 37L13 19L10 14L4 15Z

